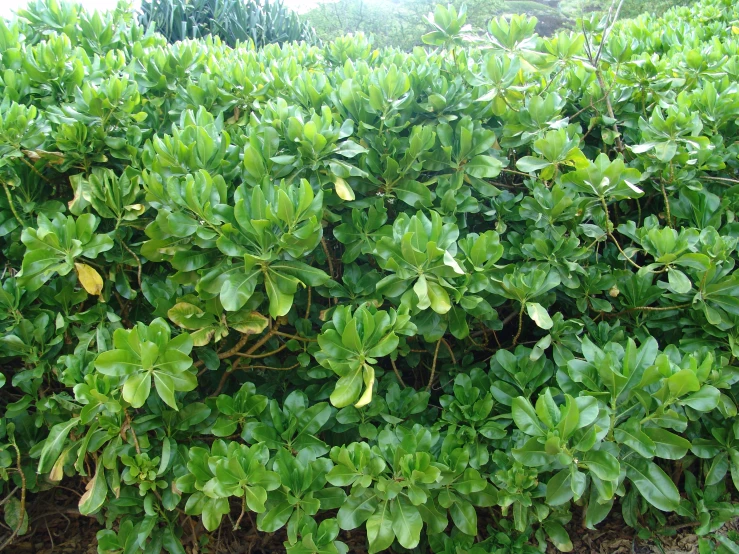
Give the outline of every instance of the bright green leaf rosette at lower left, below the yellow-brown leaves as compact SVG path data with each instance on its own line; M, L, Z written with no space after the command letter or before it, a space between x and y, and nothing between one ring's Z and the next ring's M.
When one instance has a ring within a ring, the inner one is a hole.
M169 325L161 318L149 325L138 323L133 329L116 329L113 346L98 355L95 369L120 378L123 399L134 408L149 398L152 379L159 398L175 410L175 393L191 391L198 384L190 371L192 338L187 333L172 338Z

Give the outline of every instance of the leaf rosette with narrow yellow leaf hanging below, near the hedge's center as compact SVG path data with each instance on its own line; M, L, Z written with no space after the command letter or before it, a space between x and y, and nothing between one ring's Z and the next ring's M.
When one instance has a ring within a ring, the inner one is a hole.
M352 312L351 306L337 306L331 322L318 336L321 350L315 354L319 364L339 376L331 403L337 408L369 404L377 358L388 356L398 347L398 334L414 333L415 325L410 323L407 310L386 312L364 304Z

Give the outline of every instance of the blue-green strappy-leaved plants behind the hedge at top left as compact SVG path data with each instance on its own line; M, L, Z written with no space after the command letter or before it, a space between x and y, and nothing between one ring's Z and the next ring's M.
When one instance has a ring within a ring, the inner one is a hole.
M217 35L229 46L315 42L313 28L282 0L143 0L139 22L155 25L169 42Z

